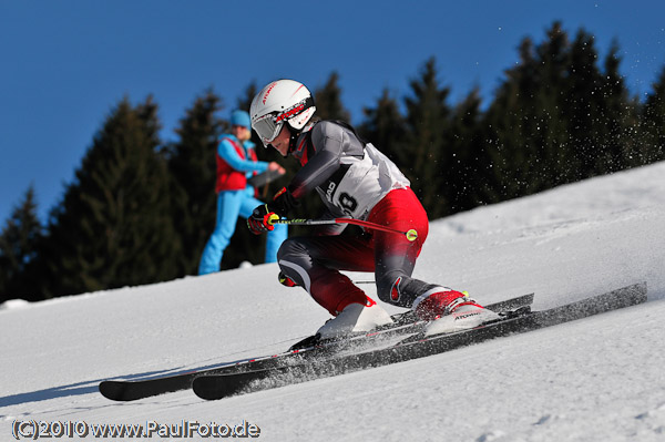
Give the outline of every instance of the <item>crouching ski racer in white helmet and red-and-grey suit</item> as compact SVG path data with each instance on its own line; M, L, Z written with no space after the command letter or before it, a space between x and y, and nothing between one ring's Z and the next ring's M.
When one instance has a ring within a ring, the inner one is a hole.
M354 218L407 232L367 229L359 236L338 236L346 224L321 227L316 236L294 237L277 253L280 281L300 286L335 318L318 333L321 339L369 331L391 322L390 316L340 270L374 271L383 302L415 310L436 320L437 330L472 328L497 313L460 291L411 278L428 234L422 205L399 168L354 127L338 121L317 121L316 106L305 85L278 80L252 102L252 126L264 146L296 157L301 168L290 184L247 218L255 234L272 230L272 220L298 205L316 189L327 213L324 219Z

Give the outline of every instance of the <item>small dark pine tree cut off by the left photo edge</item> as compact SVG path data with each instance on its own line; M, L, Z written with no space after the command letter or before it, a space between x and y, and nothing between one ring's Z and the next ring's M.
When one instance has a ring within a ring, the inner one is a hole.
M0 304L13 298L42 299L30 274L42 230L30 186L0 233Z

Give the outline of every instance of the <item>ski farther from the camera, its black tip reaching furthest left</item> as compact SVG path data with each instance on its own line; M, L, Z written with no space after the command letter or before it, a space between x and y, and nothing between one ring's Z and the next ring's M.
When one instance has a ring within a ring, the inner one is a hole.
M529 294L488 305L487 308L497 312L501 312L530 306L532 302L533 294ZM395 325L391 327L383 327L382 329L372 333L359 335L347 340L320 342L315 337L309 337L291 346L288 351L277 354L268 354L234 362L225 362L214 367L187 370L158 378L139 380L105 380L100 382L99 390L100 393L106 399L114 401L135 401L153 395L190 389L192 387L192 381L200 376L222 374L243 370L262 370L279 367L287 363L291 359L303 361L313 356L334 353L339 351L341 348L349 348L350 346L358 345L362 341L378 340L381 337L395 336L399 333L415 333L420 331L424 325L424 322L418 321L411 312L395 315L393 320Z

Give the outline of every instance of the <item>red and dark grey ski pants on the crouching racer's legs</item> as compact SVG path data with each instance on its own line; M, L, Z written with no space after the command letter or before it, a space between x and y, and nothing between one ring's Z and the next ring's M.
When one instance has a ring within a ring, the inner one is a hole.
M367 302L365 292L339 270L374 271L379 299L401 307L411 307L433 287L411 278L429 232L427 214L413 192L391 191L367 220L402 232L413 228L418 238L410 241L406 235L371 229L358 236L294 237L277 254L282 271L334 316L349 304Z

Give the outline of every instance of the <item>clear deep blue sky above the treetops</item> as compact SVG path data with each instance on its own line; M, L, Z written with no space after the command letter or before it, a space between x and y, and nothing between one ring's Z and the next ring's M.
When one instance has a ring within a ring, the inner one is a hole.
M152 94L170 141L211 86L228 109L253 81L316 89L336 71L359 123L434 56L451 104L475 85L487 102L520 41L542 42L554 20L594 34L601 56L616 39L635 95L665 66L661 0L0 0L0 226L31 184L45 220L123 96Z

